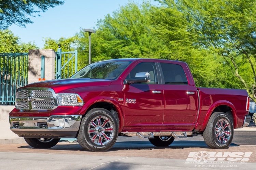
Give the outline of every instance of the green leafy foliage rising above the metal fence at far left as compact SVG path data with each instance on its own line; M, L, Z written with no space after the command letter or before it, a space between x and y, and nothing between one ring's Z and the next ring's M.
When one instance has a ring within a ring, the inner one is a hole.
M0 53L22 53L29 49L39 49L33 42L23 43L10 30L0 30Z

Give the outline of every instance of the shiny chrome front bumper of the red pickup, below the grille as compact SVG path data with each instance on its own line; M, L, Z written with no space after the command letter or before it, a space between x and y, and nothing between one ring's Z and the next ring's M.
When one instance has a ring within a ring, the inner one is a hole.
M81 115L9 117L11 131L25 138L75 138Z

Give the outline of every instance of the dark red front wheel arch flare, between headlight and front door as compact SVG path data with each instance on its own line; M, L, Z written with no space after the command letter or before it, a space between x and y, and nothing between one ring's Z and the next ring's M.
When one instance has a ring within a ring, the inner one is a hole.
M90 99L88 102L86 102L81 110L81 114L83 117L93 108L100 107L105 108L107 110L114 109L114 111L117 112L118 118L119 118L119 130L118 132L121 132L123 130L124 126L124 115L123 110L120 104L110 98L110 97L96 97L93 99Z

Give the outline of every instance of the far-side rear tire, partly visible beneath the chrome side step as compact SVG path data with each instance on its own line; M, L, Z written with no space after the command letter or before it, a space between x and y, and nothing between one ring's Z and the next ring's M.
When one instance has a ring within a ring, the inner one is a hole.
M154 138L149 138L148 140L156 147L168 147L174 139L173 136L154 136Z

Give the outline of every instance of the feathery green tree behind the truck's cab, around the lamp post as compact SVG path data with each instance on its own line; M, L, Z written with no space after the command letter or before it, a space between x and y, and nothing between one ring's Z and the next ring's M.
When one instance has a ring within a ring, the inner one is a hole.
M128 3L98 21L97 33L91 35L92 62L113 58L160 58L169 51L150 31L150 4ZM88 33L82 30L77 50L88 58ZM83 61L88 61L83 60ZM86 63L87 64L87 63Z

